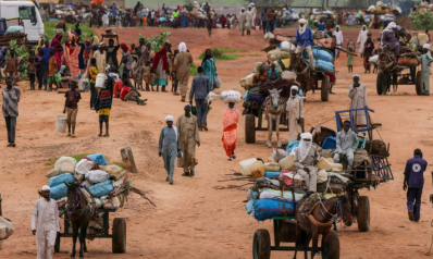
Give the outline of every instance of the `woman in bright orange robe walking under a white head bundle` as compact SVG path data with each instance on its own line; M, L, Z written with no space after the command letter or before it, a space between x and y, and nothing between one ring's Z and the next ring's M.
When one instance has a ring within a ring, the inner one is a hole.
M228 107L224 112L223 120L223 147L228 157L228 161L236 158L235 149L237 141L237 122L239 121L239 112L234 102L228 102Z

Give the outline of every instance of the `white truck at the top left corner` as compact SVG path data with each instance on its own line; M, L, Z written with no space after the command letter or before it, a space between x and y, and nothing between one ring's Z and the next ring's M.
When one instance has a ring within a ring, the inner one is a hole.
M37 45L45 32L42 18L32 1L0 1L0 17L21 17L27 40L32 45Z

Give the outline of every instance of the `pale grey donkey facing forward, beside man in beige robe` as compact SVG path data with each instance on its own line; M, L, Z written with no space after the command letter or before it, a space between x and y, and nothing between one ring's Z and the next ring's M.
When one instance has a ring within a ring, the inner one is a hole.
M272 128L275 124L276 130L276 146L281 148L281 140L280 140L280 119L281 114L286 109L285 101L280 97L281 90L271 89L269 90L270 96L267 98L264 106L267 110L267 118L268 118L268 141L267 147L272 147Z

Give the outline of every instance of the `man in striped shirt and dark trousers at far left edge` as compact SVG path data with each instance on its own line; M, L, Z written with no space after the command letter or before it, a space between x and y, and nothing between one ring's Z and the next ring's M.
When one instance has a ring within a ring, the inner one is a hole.
M8 130L8 147L15 147L16 118L18 116L20 88L12 85L12 78L5 79L7 88L2 90L3 116Z

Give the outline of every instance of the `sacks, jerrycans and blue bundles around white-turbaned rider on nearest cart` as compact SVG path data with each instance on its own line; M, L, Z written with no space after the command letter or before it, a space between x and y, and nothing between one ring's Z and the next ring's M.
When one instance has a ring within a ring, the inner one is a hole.
M350 180L341 172L341 163L334 163L332 158L326 158L332 155L329 150L322 150L319 146L317 148L321 153L319 163L316 164L317 193L324 198L331 198L341 194ZM245 209L258 221L275 217L294 217L294 202L299 202L307 195L304 178L296 174L296 147L287 149L288 152L283 149L274 150L268 163L251 158L238 164L243 175L251 175L255 178L255 184L247 194L248 203Z

